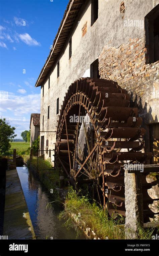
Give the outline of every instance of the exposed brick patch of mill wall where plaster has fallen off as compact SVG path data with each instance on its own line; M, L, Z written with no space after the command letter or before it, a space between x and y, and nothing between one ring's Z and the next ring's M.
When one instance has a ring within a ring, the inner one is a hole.
M159 122L159 61L147 62L145 37L130 38L117 49L105 45L99 55L101 78L118 82L131 94L131 105L138 105L146 124Z

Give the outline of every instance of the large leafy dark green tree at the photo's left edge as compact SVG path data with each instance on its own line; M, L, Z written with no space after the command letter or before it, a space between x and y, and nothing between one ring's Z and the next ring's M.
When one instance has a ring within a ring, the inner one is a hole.
M16 127L11 127L5 118L0 118L0 153L4 155L11 147L9 141L16 137L14 130Z

